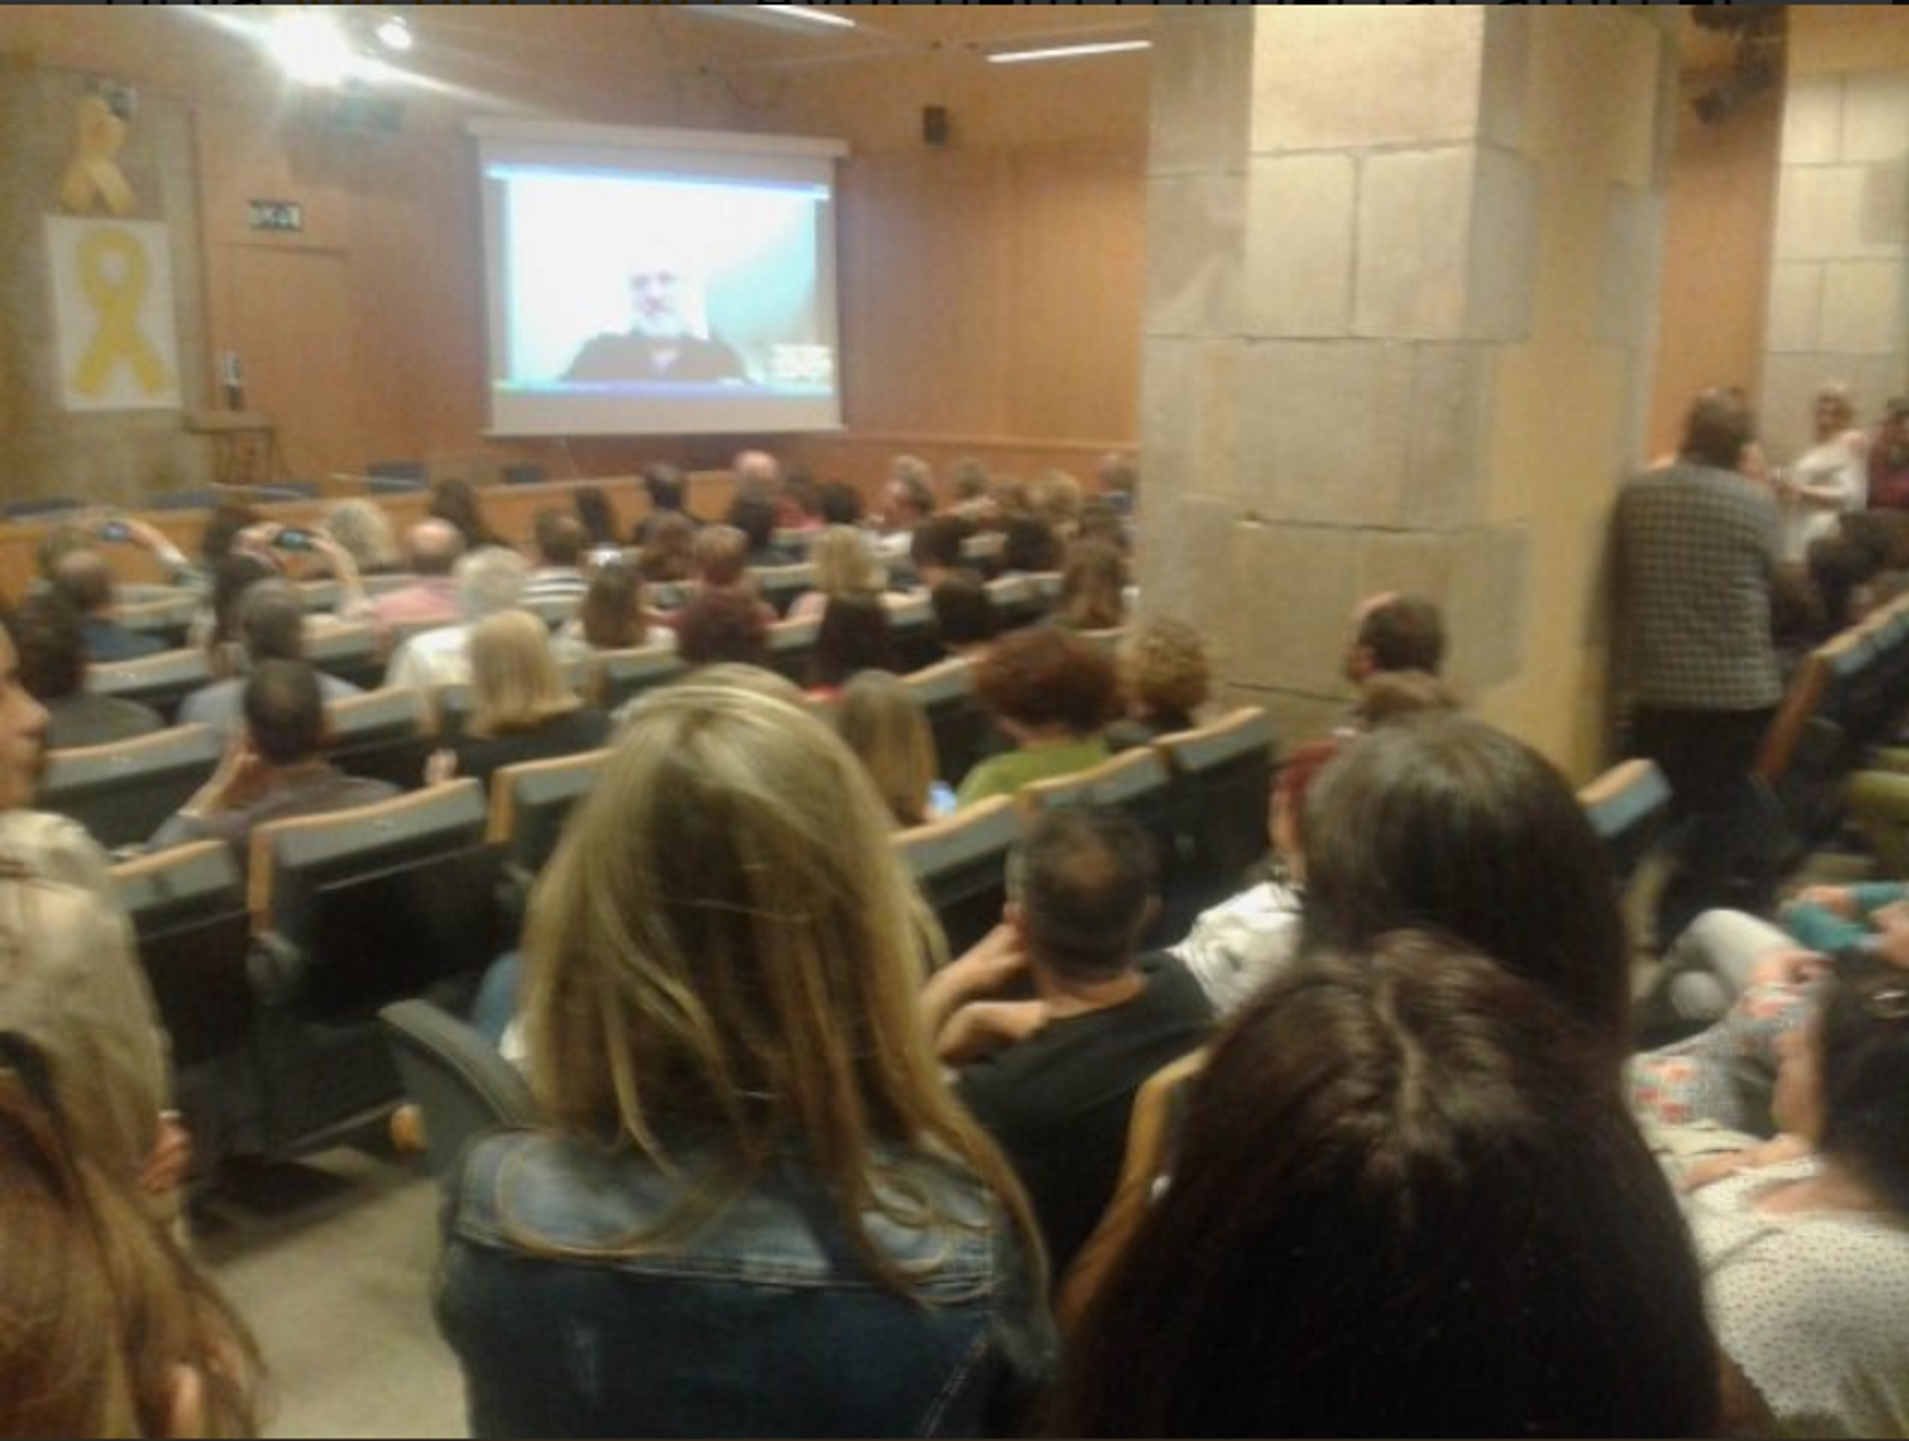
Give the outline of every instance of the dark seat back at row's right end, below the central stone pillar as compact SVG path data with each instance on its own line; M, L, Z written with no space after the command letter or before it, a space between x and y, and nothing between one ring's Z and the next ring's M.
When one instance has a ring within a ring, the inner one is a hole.
M1187 889L1205 910L1266 855L1279 737L1264 708L1241 706L1212 725L1163 735L1153 748L1172 771L1174 809L1187 842Z

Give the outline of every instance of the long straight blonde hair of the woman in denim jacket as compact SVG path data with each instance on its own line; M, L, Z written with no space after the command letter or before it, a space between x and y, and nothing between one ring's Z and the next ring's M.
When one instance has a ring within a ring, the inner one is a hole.
M525 931L531 1084L552 1122L683 1178L632 1250L672 1244L800 1153L871 1271L907 1290L871 1220L964 1222L888 1164L903 1147L977 1174L1038 1256L922 1031L911 897L874 786L800 706L687 683L632 712ZM718 1164L680 1166L689 1147Z

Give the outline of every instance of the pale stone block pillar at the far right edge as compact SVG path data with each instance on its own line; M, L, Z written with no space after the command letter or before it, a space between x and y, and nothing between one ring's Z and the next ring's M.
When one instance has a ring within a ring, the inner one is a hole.
M1909 391L1909 71L1793 74L1770 275L1762 428L1772 456L1812 443L1825 380L1861 420Z

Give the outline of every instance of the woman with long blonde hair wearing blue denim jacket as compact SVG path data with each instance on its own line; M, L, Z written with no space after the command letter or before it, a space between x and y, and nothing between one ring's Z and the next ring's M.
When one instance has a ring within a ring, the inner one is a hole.
M445 1218L475 1435L1027 1422L1040 1243L920 1033L886 832L800 706L691 683L632 712L531 905L550 1122L477 1141Z

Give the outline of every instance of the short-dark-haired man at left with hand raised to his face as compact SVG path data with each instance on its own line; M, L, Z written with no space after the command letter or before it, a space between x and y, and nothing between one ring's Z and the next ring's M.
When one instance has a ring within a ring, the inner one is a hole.
M325 693L302 660L267 660L244 683L244 737L218 771L155 834L153 847L223 840L241 868L252 830L267 821L370 805L397 794L325 760Z

